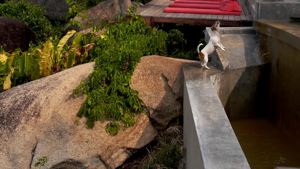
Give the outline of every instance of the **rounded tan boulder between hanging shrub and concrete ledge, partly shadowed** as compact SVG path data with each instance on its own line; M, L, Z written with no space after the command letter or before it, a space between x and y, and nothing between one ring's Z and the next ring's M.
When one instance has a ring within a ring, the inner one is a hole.
M182 64L196 62L161 56L142 57L131 78L139 91L153 127L164 131L169 122L182 115Z

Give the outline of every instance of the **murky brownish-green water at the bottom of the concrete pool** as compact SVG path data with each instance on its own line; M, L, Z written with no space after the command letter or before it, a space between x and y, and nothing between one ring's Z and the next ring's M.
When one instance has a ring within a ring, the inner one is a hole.
M295 143L265 119L230 120L251 169L300 167L300 143Z

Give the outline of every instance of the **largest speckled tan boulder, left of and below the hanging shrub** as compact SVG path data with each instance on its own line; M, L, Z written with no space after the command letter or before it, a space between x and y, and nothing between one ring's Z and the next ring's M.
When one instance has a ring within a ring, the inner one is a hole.
M0 94L0 168L34 168L47 155L47 169L115 169L157 136L146 115L116 136L106 134L107 121L86 128L85 118L76 117L85 96L72 90L93 67L79 65Z

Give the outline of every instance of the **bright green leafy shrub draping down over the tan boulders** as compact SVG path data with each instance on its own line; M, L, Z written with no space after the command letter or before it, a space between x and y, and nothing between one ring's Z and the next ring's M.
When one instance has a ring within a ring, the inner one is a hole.
M106 27L102 38L91 41L95 44L91 54L96 66L88 80L73 90L73 94L82 91L87 95L77 115L87 118L88 128L107 114L115 120L114 125L107 125L107 133L112 134L119 132L120 121L125 128L137 123L135 116L143 111L143 101L139 92L130 88L131 76L142 56L166 52L167 39L166 32L152 29L140 15L131 16L128 22L120 18L119 23Z

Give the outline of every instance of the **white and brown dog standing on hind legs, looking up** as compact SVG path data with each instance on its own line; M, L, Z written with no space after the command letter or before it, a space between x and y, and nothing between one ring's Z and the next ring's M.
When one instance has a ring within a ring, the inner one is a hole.
M222 51L225 51L226 48L220 43L220 36L219 36L219 30L220 30L220 21L216 21L212 26L211 26L211 37L209 39L208 44L201 50L199 51L199 47L203 45L200 43L197 47L197 52L199 54L200 58L200 66L204 66L206 69L210 69L209 67L206 66L208 62L208 55L212 54L214 50L216 50L218 47L222 49Z

